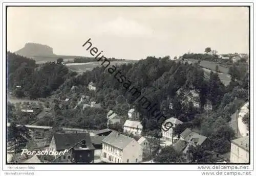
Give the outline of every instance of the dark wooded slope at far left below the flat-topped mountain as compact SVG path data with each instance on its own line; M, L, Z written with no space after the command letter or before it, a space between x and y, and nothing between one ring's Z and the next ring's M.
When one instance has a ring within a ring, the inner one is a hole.
M36 99L47 97L67 79L76 75L62 64L48 62L36 65L35 61L7 53L8 91L16 97Z

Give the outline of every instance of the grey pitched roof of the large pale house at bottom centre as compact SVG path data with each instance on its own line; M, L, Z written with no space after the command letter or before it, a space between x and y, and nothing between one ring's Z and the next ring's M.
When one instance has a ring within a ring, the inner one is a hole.
M112 132L111 134L109 134L108 136L106 136L103 139L103 142L110 144L114 147L123 149L133 140L135 140L135 139L125 136L125 135L122 135L122 134L119 134L117 132Z

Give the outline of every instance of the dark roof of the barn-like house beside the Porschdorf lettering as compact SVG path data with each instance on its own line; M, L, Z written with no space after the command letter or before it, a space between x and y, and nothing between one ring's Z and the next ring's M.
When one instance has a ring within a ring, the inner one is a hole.
M83 140L90 149L94 149L91 141L90 133L61 133L53 135L57 150L64 150L74 147Z

